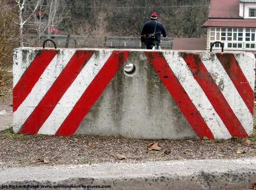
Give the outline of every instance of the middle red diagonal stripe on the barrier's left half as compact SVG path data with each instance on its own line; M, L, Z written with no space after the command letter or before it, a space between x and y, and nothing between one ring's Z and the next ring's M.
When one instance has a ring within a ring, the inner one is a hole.
M73 83L79 72L93 55L94 51L76 51L67 66L54 81L53 85L47 91L40 103L27 118L26 122L20 128L19 133L36 134L42 124L49 117L54 107L60 101L63 94Z

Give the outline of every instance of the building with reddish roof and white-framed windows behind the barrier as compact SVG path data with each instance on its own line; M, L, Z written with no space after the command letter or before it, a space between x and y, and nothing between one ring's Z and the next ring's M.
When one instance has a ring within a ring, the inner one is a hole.
M207 49L220 41L224 50L256 51L256 0L211 0L208 17Z

